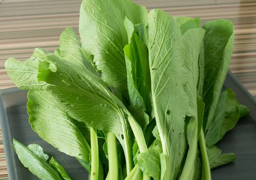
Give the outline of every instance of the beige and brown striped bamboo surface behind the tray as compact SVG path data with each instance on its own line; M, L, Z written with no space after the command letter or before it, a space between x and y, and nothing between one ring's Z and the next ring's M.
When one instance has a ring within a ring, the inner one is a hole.
M1 0L0 0L1 1ZM235 26L231 71L256 96L255 0L134 0L172 16L200 17L202 23L225 18ZM54 51L65 27L78 32L81 0L3 0L0 3L0 88L13 87L4 62L28 59L36 47ZM0 179L8 179L0 132Z

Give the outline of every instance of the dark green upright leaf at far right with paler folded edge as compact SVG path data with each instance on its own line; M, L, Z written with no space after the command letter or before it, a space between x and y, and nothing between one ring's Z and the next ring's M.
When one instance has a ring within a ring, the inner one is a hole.
M204 131L211 126L229 68L234 43L234 27L229 20L205 23L204 36Z

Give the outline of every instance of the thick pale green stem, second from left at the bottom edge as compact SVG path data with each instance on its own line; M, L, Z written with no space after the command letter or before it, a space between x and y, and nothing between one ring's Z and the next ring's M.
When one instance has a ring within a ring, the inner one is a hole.
M116 135L113 132L107 133L107 143L108 143L108 165L109 165L108 178L110 180L118 180Z

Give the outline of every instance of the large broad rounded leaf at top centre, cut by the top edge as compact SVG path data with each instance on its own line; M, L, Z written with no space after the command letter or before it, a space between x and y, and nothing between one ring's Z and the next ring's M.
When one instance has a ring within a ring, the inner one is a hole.
M89 8L90 7L90 8ZM83 48L94 55L102 80L128 96L125 56L128 44L124 19L133 24L147 24L147 10L131 0L83 0L80 9L79 33Z

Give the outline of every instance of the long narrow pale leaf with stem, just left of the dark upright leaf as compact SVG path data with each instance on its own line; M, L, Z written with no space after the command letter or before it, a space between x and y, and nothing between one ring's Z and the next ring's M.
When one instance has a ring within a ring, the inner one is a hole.
M190 20L187 22L189 21ZM194 166L198 146L198 58L201 44L203 43L204 33L205 31L202 28L192 28L187 30L182 36L186 55L184 68L188 75L188 84L185 86L185 91L189 97L190 112L188 115L192 117L187 125L186 137L189 144L189 150L187 152L186 162L183 166L180 180L187 180L192 173L191 171Z

